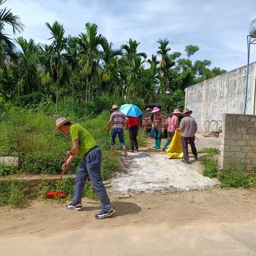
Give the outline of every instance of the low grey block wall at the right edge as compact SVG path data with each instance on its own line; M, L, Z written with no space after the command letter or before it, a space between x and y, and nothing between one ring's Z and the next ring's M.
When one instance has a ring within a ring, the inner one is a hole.
M223 114L220 169L256 169L256 115Z

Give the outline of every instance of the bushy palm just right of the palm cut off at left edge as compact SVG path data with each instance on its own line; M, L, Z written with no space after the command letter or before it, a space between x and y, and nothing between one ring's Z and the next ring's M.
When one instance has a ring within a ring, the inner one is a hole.
M37 67L42 57L41 45L36 44L33 39L27 41L23 37L18 37L15 42L21 50L17 51L18 65L15 65L18 75L17 93L18 95L30 94L42 90L42 83L38 76Z

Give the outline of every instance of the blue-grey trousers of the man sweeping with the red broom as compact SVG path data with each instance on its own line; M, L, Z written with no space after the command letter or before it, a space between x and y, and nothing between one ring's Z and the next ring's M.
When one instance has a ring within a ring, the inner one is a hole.
M100 175L101 159L102 155L99 147L94 147L88 154L84 155L83 161L76 173L73 204L78 204L82 201L85 182L90 177L95 193L101 202L101 210L110 210L110 200Z

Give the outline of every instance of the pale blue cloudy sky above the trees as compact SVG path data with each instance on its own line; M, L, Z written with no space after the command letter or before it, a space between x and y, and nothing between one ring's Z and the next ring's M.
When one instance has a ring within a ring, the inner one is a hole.
M78 35L86 22L116 47L129 38L141 44L148 57L156 54L159 38L168 38L172 51L197 45L192 60L209 59L212 67L232 70L246 65L246 35L256 18L255 0L7 0L26 26L22 36L47 43L45 22L61 22L67 34ZM9 30L10 31L10 30ZM49 41L48 41L49 43ZM256 61L256 45L251 61Z

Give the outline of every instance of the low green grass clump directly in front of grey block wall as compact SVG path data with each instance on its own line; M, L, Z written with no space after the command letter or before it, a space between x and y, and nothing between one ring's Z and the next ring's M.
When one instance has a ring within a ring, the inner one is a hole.
M249 180L242 169L224 170L218 173L218 179L222 183L221 187L243 187L249 188Z

